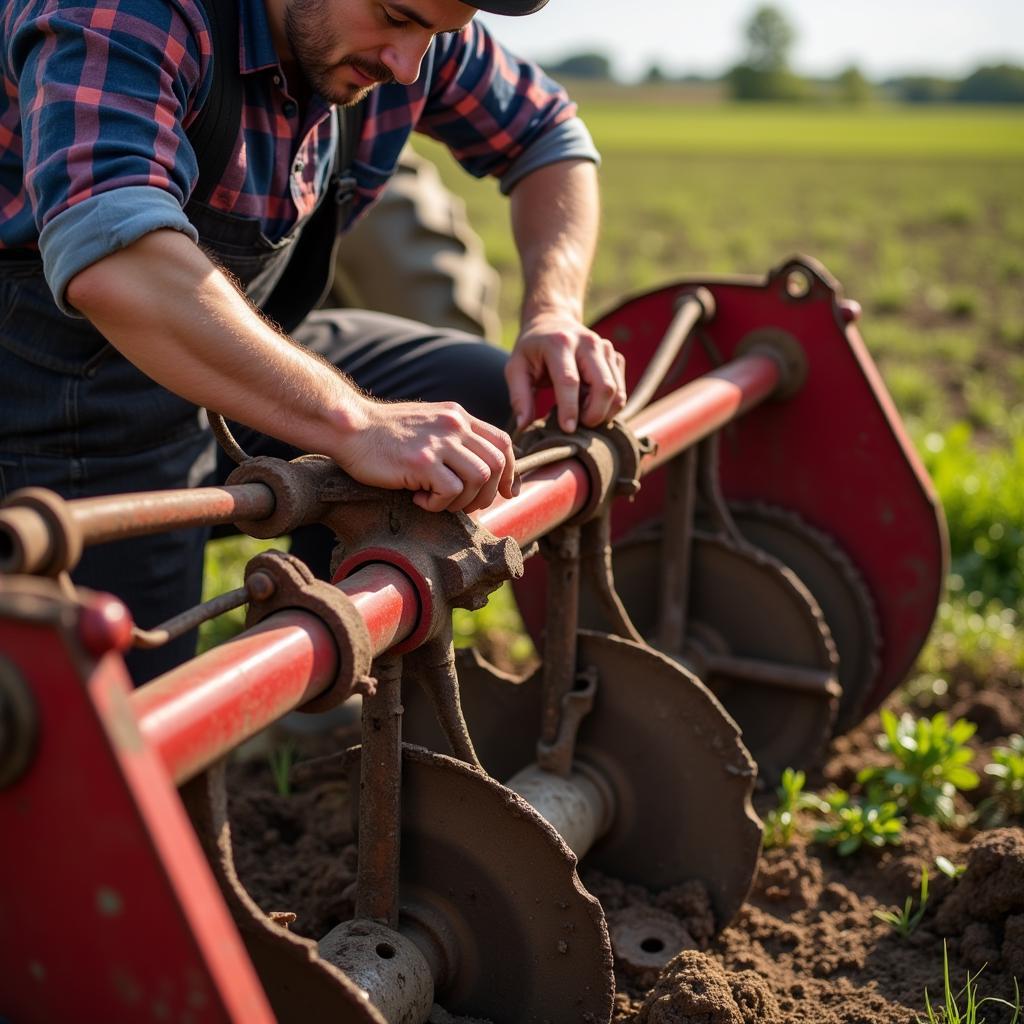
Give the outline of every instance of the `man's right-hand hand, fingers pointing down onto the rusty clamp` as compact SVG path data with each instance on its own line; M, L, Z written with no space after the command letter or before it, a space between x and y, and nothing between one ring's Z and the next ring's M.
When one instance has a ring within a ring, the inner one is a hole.
M566 432L607 423L626 404L626 359L572 316L543 313L523 324L505 369L516 428L534 419L534 392L551 385Z

